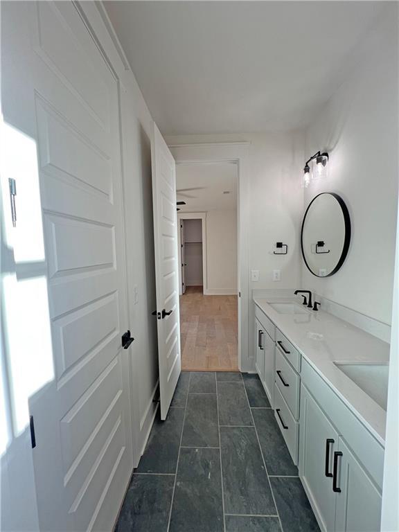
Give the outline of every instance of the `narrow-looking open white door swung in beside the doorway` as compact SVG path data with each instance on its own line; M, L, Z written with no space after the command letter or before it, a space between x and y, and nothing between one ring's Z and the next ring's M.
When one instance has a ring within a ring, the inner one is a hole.
M153 123L151 138L161 419L181 371L175 159Z

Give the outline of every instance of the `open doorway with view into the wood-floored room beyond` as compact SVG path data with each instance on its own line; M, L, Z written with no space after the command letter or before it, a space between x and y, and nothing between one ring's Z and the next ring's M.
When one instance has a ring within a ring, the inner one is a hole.
M238 167L177 164L181 369L238 371Z

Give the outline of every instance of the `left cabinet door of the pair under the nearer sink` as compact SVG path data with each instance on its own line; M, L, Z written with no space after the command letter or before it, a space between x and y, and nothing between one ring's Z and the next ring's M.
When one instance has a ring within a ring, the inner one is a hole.
M321 529L335 529L335 493L332 491L332 456L338 434L308 390L301 385L299 476Z

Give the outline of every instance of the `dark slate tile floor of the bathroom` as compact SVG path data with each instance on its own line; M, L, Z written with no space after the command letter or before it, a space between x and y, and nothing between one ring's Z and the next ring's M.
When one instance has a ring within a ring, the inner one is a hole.
M183 372L116 532L317 532L257 375Z

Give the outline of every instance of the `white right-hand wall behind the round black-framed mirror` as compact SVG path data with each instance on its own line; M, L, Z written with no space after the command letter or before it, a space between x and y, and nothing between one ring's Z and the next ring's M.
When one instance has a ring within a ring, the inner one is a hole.
M396 3L354 52L355 67L306 131L306 158L330 154L329 177L305 191L348 206L352 240L337 274L317 278L303 266L304 287L391 323L398 193L398 42Z

